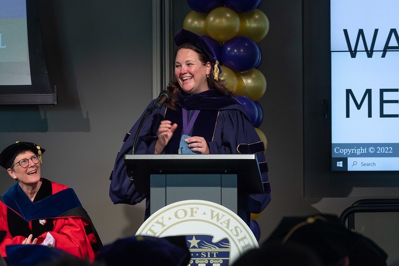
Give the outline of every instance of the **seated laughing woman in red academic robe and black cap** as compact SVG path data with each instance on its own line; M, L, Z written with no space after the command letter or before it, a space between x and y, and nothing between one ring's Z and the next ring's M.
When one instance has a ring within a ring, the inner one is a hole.
M102 246L75 192L40 177L44 149L16 142L0 154L0 165L16 184L0 201L0 255L9 245L36 244L94 260Z

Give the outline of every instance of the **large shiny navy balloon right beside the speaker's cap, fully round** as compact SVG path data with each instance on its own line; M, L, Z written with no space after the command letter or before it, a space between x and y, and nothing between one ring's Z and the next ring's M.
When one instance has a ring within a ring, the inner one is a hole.
M254 68L259 56L258 44L245 36L236 36L222 45L223 65L236 72L246 72Z

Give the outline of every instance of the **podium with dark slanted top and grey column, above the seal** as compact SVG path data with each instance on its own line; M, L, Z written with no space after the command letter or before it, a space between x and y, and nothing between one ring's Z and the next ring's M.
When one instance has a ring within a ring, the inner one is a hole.
M205 200L237 214L237 195L263 193L255 154L125 155L139 193L150 194L150 214L178 201Z

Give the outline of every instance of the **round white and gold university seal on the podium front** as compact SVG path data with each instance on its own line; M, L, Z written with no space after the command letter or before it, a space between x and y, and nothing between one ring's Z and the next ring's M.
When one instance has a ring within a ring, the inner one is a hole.
M191 266L228 266L258 242L245 222L231 210L208 201L180 201L158 210L136 236L185 236Z

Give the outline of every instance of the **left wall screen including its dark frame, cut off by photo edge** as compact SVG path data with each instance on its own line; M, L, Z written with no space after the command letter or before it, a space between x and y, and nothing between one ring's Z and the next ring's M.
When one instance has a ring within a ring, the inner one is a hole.
M0 0L0 104L56 104L37 0Z

